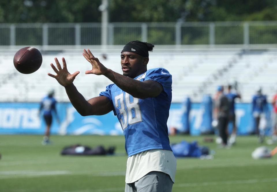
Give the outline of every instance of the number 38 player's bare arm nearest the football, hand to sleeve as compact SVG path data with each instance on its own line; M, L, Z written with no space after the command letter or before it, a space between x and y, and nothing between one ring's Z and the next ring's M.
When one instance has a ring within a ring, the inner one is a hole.
M76 71L74 74L70 74L66 67L65 59L62 58L62 61L63 68L61 68L57 58L55 58L57 68L53 65L53 63L50 65L57 75L50 73L48 73L48 75L55 78L59 84L65 87L68 98L78 113L80 113L82 116L103 115L113 110L111 101L105 96L94 97L87 101L83 95L78 92L73 84L75 77L80 72Z

